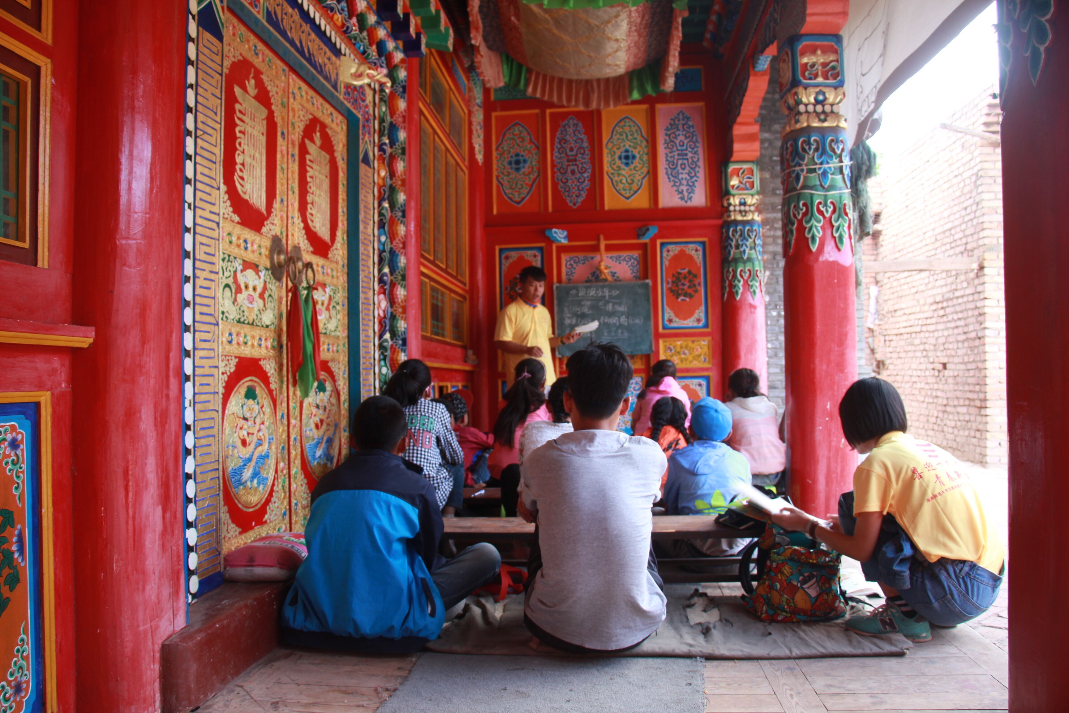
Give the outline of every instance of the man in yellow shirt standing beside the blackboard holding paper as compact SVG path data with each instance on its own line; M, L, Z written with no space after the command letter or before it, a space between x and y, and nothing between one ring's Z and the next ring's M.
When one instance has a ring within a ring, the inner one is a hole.
M542 306L545 294L545 270L530 265L520 270L520 297L502 309L497 315L494 330L494 346L505 355L505 373L509 386L515 378L515 367L527 357L545 365L545 386L557 381L553 368L553 350L558 344L571 344L579 335L569 332L563 337L553 336L553 320L549 310Z

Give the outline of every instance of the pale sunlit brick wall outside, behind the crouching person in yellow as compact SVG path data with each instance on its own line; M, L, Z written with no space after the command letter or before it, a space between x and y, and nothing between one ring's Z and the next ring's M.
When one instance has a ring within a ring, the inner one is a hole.
M882 170L873 196L882 201L878 230L862 246L866 263L964 258L979 267L866 269L858 295L861 351L901 392L910 431L978 463L1007 462L1002 165L992 91L946 122L990 139L935 128Z

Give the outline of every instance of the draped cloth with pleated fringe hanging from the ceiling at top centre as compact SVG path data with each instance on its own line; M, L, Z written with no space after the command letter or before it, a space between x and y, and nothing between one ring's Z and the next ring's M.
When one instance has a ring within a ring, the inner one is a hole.
M675 89L682 0L469 0L468 10L490 88L582 109Z

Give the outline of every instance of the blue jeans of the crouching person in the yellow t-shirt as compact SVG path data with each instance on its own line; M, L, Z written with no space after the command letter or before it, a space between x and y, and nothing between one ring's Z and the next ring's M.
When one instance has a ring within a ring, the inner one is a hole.
M839 523L853 534L854 494L839 497ZM898 590L899 596L920 616L940 626L954 626L987 611L998 596L1002 575L976 562L938 559L929 562L893 515L883 516L871 559L862 562L869 582Z

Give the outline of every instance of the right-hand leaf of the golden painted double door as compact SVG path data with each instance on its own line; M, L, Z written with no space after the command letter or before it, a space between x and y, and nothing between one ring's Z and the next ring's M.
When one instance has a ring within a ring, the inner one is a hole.
M306 399L290 379L290 492L293 526L304 529L312 490L348 450L347 126L293 74L289 111L289 244L314 267L321 343L320 378Z

